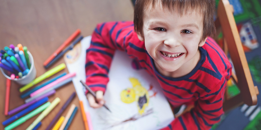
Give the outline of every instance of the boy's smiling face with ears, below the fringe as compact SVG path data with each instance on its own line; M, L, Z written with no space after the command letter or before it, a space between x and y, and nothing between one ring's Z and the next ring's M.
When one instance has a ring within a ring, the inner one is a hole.
M203 17L196 10L180 16L176 11L155 7L145 10L143 21L144 39L139 34L138 37L144 40L146 50L163 75L184 76L196 66L200 60L198 47L206 41L200 42Z

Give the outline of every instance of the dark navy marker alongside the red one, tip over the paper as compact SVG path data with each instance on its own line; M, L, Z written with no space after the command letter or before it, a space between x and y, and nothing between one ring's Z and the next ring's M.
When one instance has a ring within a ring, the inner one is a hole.
M83 38L83 36L80 36L75 41L73 41L73 43L70 44L70 46L68 46L66 49L61 51L61 53L59 53L57 56L55 56L55 58L53 58L46 66L44 66L44 68L46 68L46 69L49 68L57 60L59 60L67 51L71 50L78 42L80 42L82 38Z

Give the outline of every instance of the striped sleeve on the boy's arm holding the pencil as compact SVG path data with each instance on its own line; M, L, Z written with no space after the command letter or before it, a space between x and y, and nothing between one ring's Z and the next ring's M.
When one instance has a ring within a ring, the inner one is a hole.
M133 22L108 22L98 24L93 31L85 63L86 84L93 91L105 92L115 50L126 51L126 37L133 29Z

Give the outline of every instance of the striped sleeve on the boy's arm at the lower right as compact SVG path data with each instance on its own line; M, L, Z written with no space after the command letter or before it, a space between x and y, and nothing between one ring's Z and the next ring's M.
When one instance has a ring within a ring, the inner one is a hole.
M226 78L223 77L210 93L200 97L195 102L195 107L190 112L175 118L162 130L209 130L215 123L220 121L224 113L222 104L226 81Z

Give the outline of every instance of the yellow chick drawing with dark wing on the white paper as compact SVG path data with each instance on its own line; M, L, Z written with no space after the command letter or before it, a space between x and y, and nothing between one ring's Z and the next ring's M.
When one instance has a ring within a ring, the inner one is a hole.
M132 103L134 101L137 102L138 112L140 115L144 113L145 108L148 106L149 103L149 94L148 90L144 88L138 79L136 78L129 78L133 88L126 88L122 90L120 96L121 100L124 103ZM152 87L152 86L151 86ZM151 88L150 88L151 90Z

